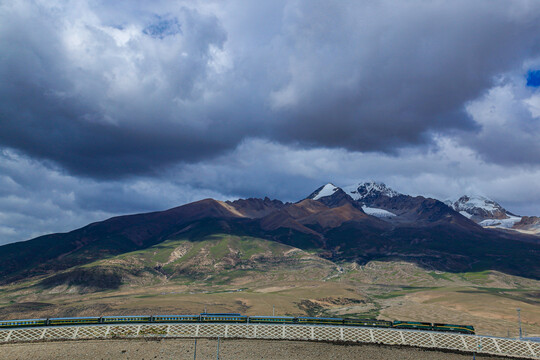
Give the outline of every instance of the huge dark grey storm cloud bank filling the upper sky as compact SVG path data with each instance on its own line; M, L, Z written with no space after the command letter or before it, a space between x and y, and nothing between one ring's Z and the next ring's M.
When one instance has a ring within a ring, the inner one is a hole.
M536 1L139 5L2 5L0 146L95 178L253 137L397 154L478 133L465 104L540 55Z

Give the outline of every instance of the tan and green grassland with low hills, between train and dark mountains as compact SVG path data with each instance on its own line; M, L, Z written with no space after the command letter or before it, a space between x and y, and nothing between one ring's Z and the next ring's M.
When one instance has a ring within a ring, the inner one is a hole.
M540 282L496 271L448 273L403 261L334 263L252 237L170 239L0 288L0 318L241 312L473 324L540 334Z

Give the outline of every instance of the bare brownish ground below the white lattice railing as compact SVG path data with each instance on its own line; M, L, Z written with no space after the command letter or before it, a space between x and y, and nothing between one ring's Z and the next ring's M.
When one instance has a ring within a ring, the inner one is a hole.
M219 359L227 360L470 360L472 354L456 354L417 348L379 345L340 345L305 341L221 340ZM90 340L0 345L2 359L193 359L193 339ZM214 359L217 340L197 340L197 359ZM476 355L476 359L508 358Z

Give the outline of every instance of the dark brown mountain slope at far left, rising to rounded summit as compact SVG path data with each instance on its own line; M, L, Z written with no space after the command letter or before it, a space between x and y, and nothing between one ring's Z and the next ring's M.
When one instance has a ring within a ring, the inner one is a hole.
M2 246L2 280L65 269L110 255L146 248L201 219L243 215L227 204L205 199L165 211L113 217L65 234L51 234Z

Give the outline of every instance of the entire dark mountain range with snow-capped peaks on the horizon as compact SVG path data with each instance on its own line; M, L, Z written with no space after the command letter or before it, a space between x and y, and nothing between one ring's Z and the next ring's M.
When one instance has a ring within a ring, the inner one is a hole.
M230 234L316 251L332 261L402 259L444 271L494 269L540 278L540 238L484 228L487 219L504 221L515 215L494 202L484 206L484 212L478 210L482 206L471 204L482 205L470 197L445 204L375 182L343 189L326 184L296 203L205 199L4 245L0 276L2 283L49 276L167 240L181 237L196 242ZM524 217L516 225L530 229L538 221Z

